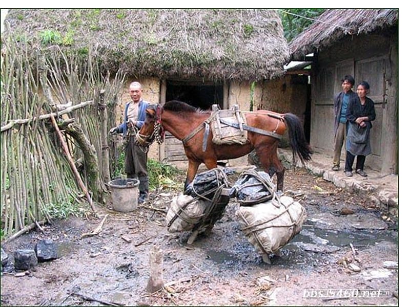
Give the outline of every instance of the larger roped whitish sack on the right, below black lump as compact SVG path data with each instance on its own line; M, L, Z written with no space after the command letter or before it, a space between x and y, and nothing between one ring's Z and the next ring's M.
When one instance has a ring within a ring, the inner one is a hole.
M254 206L240 206L236 211L243 234L255 249L271 254L288 244L300 232L306 210L289 196L277 196Z

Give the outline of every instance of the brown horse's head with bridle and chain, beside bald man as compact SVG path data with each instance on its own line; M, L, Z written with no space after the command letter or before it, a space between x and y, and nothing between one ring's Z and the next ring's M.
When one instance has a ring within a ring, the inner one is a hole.
M161 124L162 107L160 104L151 104L146 109L144 124L139 129L136 140L140 146L148 147L154 141L163 142L165 131Z

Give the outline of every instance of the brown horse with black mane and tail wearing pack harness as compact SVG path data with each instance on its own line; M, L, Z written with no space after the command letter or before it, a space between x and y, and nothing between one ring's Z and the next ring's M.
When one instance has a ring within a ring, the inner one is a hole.
M201 163L212 169L217 167L218 160L239 158L255 149L264 170L271 177L276 173L277 190L281 192L284 167L278 159L277 147L286 127L293 152L293 164L296 164L296 154L302 163L311 159L312 151L304 138L301 122L292 113L279 114L265 110L246 112L247 126L254 130L256 128L258 132L249 130L248 141L243 145L216 145L212 142L212 131L209 131L208 138L204 140L204 122L211 116L211 111L203 111L185 102L173 100L163 106L150 105L146 112L146 120L136 139L141 146L149 146L155 140L162 142L164 132L169 131L181 140L188 158L185 188L193 181ZM271 135L261 134L263 132ZM203 144L206 144L206 148Z

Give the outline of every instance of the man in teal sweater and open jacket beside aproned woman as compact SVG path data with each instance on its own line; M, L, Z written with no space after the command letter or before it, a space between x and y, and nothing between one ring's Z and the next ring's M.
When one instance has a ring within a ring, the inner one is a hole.
M355 79L350 76L344 76L342 79L342 89L343 91L336 94L334 98L334 112L335 112L335 122L334 122L334 155L333 155L333 167L332 170L338 171L340 167L340 153L342 151L343 143L346 141L346 110L347 105L352 101L357 94L352 91L355 85Z

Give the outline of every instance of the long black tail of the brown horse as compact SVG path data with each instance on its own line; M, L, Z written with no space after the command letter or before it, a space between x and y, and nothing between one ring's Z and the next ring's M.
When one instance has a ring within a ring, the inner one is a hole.
M304 165L305 161L312 159L312 149L304 137L302 123L295 114L283 114L283 118L288 126L289 141L292 147L293 165L296 165L296 154Z

